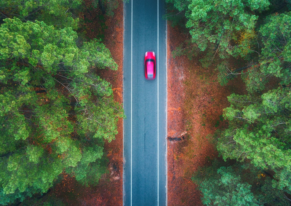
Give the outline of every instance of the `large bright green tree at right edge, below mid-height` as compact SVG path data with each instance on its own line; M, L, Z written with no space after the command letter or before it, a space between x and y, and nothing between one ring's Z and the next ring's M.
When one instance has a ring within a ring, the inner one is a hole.
M260 98L232 94L228 101L231 105L223 115L229 128L217 145L223 159L249 159L274 173L273 187L290 193L290 88L277 88Z

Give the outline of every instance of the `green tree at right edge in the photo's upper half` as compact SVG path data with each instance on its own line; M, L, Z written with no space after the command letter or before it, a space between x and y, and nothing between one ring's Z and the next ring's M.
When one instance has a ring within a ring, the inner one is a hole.
M242 78L246 83L247 90L251 93L262 91L270 78L278 78L281 84L291 83L290 78L290 45L291 45L291 13L272 14L264 19L264 24L258 31L259 49L249 64L253 64ZM260 43L259 43L260 42ZM246 46L242 47L246 48ZM239 54L243 54L239 51ZM219 79L222 85L228 82L228 77L232 71L226 70L228 62L221 63Z

